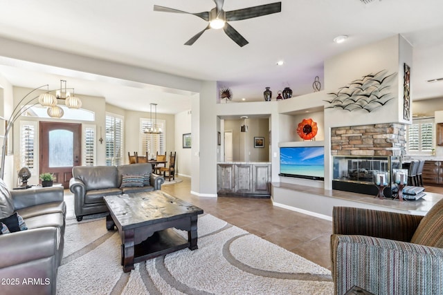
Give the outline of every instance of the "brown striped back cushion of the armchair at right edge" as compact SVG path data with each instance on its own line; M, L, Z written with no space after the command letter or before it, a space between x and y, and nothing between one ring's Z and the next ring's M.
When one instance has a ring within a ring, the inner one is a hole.
M443 200L426 213L410 242L443 248Z

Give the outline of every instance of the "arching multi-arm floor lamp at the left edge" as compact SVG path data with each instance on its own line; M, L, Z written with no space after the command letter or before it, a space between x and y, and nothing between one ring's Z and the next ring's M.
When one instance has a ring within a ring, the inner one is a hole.
M36 97L32 97L32 98L28 97L34 91L37 91L37 90L44 88L44 87L46 87L46 93L42 93L42 94L37 95ZM17 121L17 119L21 116L21 114L25 113L26 111L28 111L29 108L32 108L36 104L41 104L42 106L55 106L57 104L57 98L55 97L55 95L52 95L49 93L48 87L49 87L48 84L42 85L40 87L33 89L33 91L30 91L28 94L26 94L19 101L17 106L15 106L14 110L12 111L12 114L9 117L9 120L6 122L5 135L3 138L3 146L1 147L1 166L0 166L0 178L1 179L3 179L3 176L5 174L5 157L6 157L6 148L8 146L8 135L12 129L12 126L14 125L14 122ZM28 99L28 100L26 101L26 99ZM35 100L37 100L37 102L35 102L34 104L31 104ZM23 102L25 102L25 103L23 104L23 106L21 106L21 104ZM31 105L28 106L28 104L31 104ZM3 118L3 120L6 120L6 118Z

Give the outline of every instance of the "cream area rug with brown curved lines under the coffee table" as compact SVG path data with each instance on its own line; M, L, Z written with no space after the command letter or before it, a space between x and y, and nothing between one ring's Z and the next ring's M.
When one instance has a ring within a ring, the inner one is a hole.
M224 220L199 216L198 235L199 249L124 273L120 236L105 218L66 225L57 294L333 294L328 269Z

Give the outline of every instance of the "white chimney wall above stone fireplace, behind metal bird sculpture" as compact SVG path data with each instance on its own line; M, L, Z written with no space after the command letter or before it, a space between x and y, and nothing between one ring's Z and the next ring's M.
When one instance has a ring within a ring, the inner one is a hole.
M403 47L408 47L403 49ZM376 111L368 113L365 110L345 111L340 108L325 108L325 123L327 126L352 126L377 123L405 122L403 118L403 64L407 62L411 68L412 50L403 37L395 35L367 46L361 46L341 55L336 55L325 61L325 89L327 93L337 92L340 87L350 84L364 75L387 70L388 74L397 73L392 79L390 96L395 97ZM401 57L400 57L401 53ZM401 58L401 60L400 60ZM401 90L401 92L400 92ZM327 95L332 99L332 95ZM326 106L331 106L327 104Z

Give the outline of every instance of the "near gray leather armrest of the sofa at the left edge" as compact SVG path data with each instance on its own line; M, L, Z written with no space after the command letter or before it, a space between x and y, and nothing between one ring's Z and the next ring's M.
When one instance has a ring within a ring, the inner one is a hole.
M0 236L0 269L54 257L55 271L59 241L60 231L56 227L41 227L3 234Z

